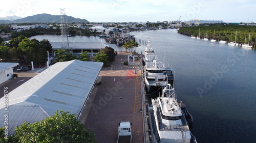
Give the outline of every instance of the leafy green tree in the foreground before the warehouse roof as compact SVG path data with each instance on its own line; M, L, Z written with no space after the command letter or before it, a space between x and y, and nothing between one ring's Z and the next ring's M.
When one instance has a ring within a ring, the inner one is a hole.
M94 132L87 131L75 114L63 110L40 122L25 122L15 131L8 142L97 142Z

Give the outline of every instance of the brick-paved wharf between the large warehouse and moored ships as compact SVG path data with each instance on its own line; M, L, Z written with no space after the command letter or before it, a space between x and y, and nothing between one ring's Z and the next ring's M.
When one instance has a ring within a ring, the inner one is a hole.
M99 143L117 142L121 121L133 123L132 142L143 142L140 62L123 65L127 55L121 52L111 68L102 68L97 81L102 84L95 86L79 119Z

